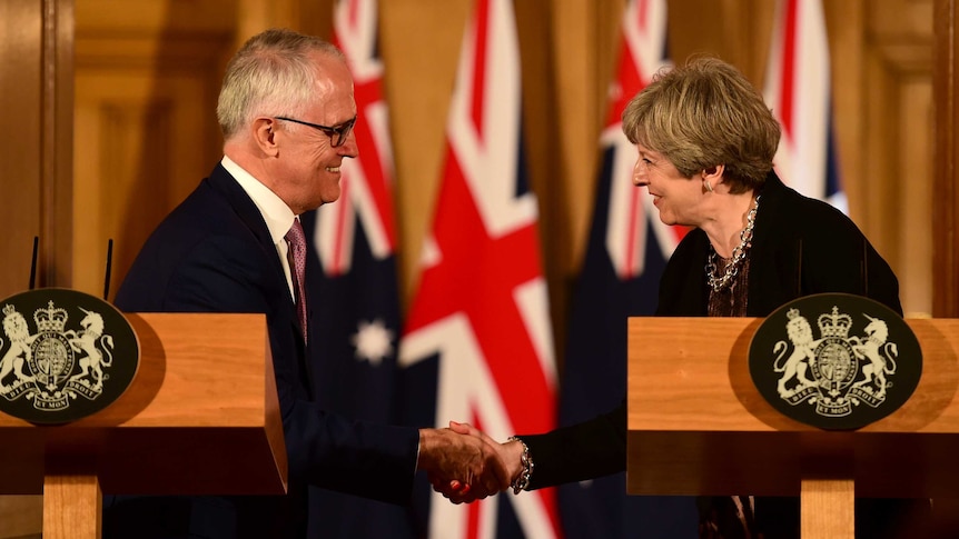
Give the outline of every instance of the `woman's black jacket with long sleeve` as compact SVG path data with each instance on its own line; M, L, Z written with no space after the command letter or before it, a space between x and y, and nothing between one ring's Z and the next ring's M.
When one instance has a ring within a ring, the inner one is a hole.
M709 238L690 231L660 281L656 316L705 317ZM868 296L898 313L899 281L856 224L836 208L803 197L770 172L749 254L750 317L813 293ZM531 487L582 481L626 469L626 402L589 421L545 435L521 435L535 463Z

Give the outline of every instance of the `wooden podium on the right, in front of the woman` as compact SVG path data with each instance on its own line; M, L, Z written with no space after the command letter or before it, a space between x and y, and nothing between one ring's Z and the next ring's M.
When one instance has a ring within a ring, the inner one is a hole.
M629 320L631 495L799 496L803 539L852 539L854 497L956 497L959 319L909 319L912 397L854 431L787 418L755 389L757 318Z

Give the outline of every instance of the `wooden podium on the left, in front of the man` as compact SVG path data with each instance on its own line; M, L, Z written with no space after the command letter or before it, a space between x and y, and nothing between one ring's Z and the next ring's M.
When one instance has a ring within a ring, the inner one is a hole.
M263 315L127 315L140 365L112 405L34 426L0 413L0 493L43 495L45 539L100 537L102 492L283 495Z

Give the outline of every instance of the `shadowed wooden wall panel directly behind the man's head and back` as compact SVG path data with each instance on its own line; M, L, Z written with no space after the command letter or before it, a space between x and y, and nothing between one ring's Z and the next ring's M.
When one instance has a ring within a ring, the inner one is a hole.
M73 288L111 297L147 236L219 159L216 96L231 2L81 0L77 10Z

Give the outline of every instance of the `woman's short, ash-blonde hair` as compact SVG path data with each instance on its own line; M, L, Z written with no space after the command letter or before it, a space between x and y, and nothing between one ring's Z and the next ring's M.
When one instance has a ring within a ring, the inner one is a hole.
M722 164L731 192L763 184L780 126L739 70L698 57L665 68L623 111L630 142L662 153L686 178Z

